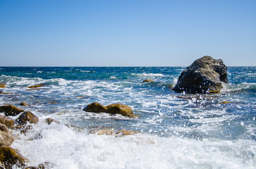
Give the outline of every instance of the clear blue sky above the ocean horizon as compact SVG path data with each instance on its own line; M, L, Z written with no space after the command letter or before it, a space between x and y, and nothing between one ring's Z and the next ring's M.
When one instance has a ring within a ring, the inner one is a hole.
M0 66L256 66L255 0L0 0Z

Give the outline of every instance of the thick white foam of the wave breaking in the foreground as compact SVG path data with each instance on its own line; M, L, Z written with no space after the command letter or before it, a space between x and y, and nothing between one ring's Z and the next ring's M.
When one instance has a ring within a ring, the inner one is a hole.
M40 133L41 139L32 139ZM115 137L40 123L13 142L30 165L54 168L254 168L255 142L197 140L149 134Z

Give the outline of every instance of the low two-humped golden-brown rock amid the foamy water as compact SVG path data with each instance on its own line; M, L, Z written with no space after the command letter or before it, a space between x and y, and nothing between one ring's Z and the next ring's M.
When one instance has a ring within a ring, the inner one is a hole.
M110 114L120 114L127 116L129 118L135 117L132 108L126 104L110 104L108 106L103 106L102 104L93 103L83 108L83 111L93 112L93 113L110 113Z

